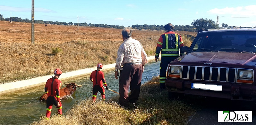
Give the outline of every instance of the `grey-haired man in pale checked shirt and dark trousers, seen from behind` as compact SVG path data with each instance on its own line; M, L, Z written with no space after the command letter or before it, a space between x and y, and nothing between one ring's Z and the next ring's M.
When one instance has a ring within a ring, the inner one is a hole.
M141 77L144 71L144 64L148 63L148 56L144 51L142 44L132 39L132 31L128 28L122 30L123 41L117 51L115 65L115 78L119 76L119 103L124 107L129 107L130 103L138 100L141 90ZM123 66L123 67L122 67ZM128 97L128 90L131 94Z

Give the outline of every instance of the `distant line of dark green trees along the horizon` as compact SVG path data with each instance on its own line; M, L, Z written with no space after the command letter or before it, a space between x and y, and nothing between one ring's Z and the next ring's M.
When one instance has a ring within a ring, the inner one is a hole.
M3 15L1 15L0 13L0 20L7 20L10 21L12 19L12 21L15 22L26 22L26 23L31 23L31 20L29 19L21 19L20 17L11 17L11 18L3 18ZM52 25L75 25L75 26L84 26L84 27L106 27L106 28L117 28L117 29L123 29L124 26L118 26L118 25L107 25L107 24L92 24L92 23L72 23L72 22L58 22L58 21L43 21L43 20L35 20L35 23L39 23L39 24L52 24ZM190 25L186 25L186 26L181 26L181 25L175 25L174 30L175 31L190 31L190 32L194 32L194 31L198 31L199 29L219 29L219 25L215 24L215 22L213 20L207 20L207 19L196 19L193 20L193 22L191 23L192 26ZM128 26L130 27L130 26ZM165 30L164 25L132 25L133 29L137 29L137 30ZM221 28L238 28L238 27L231 27L228 26L225 23L221 24ZM239 27L239 28L252 28L252 27Z

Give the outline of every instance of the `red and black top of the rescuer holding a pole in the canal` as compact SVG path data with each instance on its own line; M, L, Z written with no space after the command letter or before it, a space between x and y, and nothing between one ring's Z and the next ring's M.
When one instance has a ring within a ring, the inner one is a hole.
M103 84L107 86L104 73L100 70L94 70L92 71L90 75L90 81L93 82L94 85L99 85L100 87L103 87Z

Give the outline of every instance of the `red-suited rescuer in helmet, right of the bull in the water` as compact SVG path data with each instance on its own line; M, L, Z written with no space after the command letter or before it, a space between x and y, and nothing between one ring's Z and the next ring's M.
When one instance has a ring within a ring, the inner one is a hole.
M106 90L108 90L107 83L104 77L104 73L100 71L102 69L103 65L101 63L97 64L97 70L92 71L90 75L90 81L93 82L92 87L92 99L95 101L97 98L98 91L101 94L101 99L105 100L105 90L103 88L103 84L106 87Z

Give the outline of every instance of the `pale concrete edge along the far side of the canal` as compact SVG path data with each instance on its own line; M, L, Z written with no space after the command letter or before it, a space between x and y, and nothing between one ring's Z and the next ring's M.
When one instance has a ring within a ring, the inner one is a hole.
M153 60L155 59L155 56L150 56L148 57L148 60ZM114 64L108 64L104 65L102 67L102 71L106 70L111 70L115 68L115 63ZM86 68L86 69L80 69L76 71L71 71L67 73L61 74L60 80L65 80L65 79L70 79L73 77L78 77L86 74L90 74L92 71L96 70L96 67L91 67L91 68ZM37 78L32 78L32 79L27 79L27 80L21 80L21 81L16 81L16 82L9 82L9 83L4 83L0 84L0 95L1 94L6 94L9 92L13 91L18 91L22 90L24 88L32 88L36 86L40 86L46 83L46 81L54 76L52 75L47 75L47 76L42 76L42 77L37 77Z

